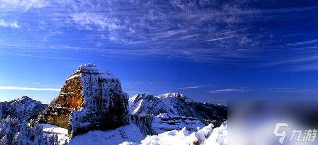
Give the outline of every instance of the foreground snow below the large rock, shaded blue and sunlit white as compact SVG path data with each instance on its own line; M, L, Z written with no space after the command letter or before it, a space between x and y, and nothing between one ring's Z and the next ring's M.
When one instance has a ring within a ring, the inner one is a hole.
M43 125L45 133L57 133L61 144L67 137L67 130L54 125ZM186 127L181 130L172 130L158 135L148 135L144 138L140 129L130 123L114 130L89 131L86 134L75 136L70 144L121 144L121 145L170 145L170 144L200 144L200 145L227 145L227 123L213 129L209 124L196 132L190 133ZM49 134L48 134L49 135Z

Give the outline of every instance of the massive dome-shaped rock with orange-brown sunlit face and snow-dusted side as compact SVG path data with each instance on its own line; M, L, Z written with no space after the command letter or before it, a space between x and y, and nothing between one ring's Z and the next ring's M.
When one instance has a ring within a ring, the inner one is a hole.
M39 115L40 123L67 128L70 136L129 123L128 95L120 81L94 64L79 66L57 99Z

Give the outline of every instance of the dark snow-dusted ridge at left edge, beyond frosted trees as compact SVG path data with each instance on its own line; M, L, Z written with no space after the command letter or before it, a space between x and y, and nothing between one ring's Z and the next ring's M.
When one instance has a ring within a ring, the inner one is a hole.
M36 118L46 107L47 104L22 96L10 102L1 102L0 117L11 115L11 117L17 117L21 120L30 120Z

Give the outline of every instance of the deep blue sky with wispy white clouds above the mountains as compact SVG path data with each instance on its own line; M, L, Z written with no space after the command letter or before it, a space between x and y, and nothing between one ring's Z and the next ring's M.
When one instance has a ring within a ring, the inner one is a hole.
M0 101L48 103L84 63L201 102L318 97L315 1L0 0Z

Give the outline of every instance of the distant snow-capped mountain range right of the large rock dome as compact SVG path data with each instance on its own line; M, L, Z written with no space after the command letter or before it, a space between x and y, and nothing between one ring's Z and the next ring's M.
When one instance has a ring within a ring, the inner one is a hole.
M193 117L202 120L215 120L219 123L227 119L227 107L222 105L198 103L178 93L160 96L137 94L129 99L129 110L133 115L167 113Z

